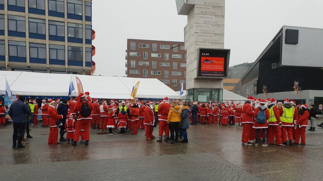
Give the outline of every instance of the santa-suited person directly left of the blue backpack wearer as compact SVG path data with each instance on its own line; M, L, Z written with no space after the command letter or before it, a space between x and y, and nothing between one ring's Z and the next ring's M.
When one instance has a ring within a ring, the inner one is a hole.
M248 97L248 100L245 101L245 104L243 105L242 108L242 124L243 124L243 130L242 130L242 143L245 145L252 145L250 143L250 139L253 137L252 133L252 125L254 124L254 111L252 108L252 101L255 99L253 97Z

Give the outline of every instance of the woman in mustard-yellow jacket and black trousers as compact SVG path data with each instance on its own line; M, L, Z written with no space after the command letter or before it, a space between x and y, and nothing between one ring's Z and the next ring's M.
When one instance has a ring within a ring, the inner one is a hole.
M172 107L168 112L167 123L169 124L169 129L171 131L171 144L178 142L178 132L180 128L181 121L181 109L179 106L179 101L172 103ZM175 132L175 135L174 135ZM174 139L175 137L175 139Z

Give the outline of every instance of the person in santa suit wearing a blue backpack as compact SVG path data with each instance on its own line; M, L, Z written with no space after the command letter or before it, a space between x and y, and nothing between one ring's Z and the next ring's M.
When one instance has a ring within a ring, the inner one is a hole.
M263 111L263 112L262 112ZM265 114L265 115L263 115ZM264 116L264 118L263 118ZM256 129L256 135L255 135L255 145L258 145L258 135L259 131L262 131L262 146L268 146L266 144L266 129L268 128L268 119L270 117L269 115L269 110L265 106L265 100L260 100L259 101L259 107L255 109L254 117L256 118L253 128Z

